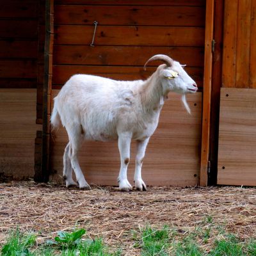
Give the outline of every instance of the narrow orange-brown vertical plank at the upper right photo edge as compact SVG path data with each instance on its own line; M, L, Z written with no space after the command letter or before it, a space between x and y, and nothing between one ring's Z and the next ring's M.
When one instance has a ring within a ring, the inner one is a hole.
M251 12L249 87L256 88L256 0L252 0Z

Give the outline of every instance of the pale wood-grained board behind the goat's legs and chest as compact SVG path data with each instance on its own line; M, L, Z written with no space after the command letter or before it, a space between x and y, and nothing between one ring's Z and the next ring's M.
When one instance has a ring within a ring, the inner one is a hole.
M52 91L52 97L58 90ZM188 95L192 115L186 113L180 95L170 93L164 104L159 126L147 148L143 162L143 179L155 186L195 186L200 170L202 93ZM51 170L52 180L62 176L63 150L67 143L65 129L52 131ZM129 180L134 174L135 144L131 147ZM117 141L86 142L80 152L81 168L91 184L117 185L120 157Z

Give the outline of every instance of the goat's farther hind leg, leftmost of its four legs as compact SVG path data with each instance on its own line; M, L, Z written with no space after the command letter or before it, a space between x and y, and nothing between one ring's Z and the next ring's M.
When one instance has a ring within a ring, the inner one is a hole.
M63 155L63 179L66 182L67 188L70 186L77 186L77 183L72 179L72 166L71 166L71 147L70 142L68 141L67 146L65 147Z

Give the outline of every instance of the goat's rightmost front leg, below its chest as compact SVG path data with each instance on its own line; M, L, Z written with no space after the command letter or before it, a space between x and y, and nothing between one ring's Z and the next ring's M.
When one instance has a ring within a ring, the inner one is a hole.
M140 191L147 190L147 186L141 178L141 167L143 163L143 158L145 156L145 151L148 145L148 140L149 138L143 141L137 141L137 154L136 154L134 182L135 182L136 189Z

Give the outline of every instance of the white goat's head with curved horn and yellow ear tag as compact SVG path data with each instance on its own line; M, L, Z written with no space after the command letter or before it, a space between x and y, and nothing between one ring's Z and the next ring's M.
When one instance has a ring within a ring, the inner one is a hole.
M187 74L183 68L184 66L182 67L178 61L174 61L166 55L157 54L151 57L147 63L154 60L161 60L166 64L164 67L159 66L159 76L164 89L181 94L195 93L197 91L195 81Z

